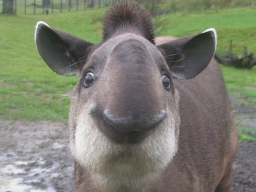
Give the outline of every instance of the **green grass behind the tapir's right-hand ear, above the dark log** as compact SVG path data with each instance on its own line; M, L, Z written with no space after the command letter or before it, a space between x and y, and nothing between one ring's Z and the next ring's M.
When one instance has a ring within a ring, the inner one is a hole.
M233 52L242 55L243 48L256 52L256 10L252 8L221 9L218 13L167 14L157 18L157 35L183 37L215 28L218 32L218 52L225 54L233 40Z

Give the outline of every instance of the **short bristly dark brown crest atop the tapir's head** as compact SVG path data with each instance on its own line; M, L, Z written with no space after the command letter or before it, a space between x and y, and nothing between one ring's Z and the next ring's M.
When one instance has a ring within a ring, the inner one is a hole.
M148 12L137 3L120 3L113 6L104 17L104 40L123 32L142 35L152 44L154 42L154 25Z

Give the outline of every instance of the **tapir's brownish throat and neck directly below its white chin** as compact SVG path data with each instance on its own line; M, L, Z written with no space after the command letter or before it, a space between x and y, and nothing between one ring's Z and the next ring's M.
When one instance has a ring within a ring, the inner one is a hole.
M89 173L75 163L76 190L78 192L145 192L156 187L160 172L149 175L101 175Z

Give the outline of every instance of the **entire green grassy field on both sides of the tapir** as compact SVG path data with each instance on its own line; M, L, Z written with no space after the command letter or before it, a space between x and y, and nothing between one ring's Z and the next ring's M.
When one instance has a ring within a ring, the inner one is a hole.
M52 73L34 43L39 20L92 43L102 38L105 8L85 12L49 15L0 15L0 119L65 121L69 111L67 93L76 84L75 76ZM218 52L224 54L233 40L233 50L244 46L256 53L256 11L250 8L225 9L200 14L167 14L155 19L157 35L182 37L214 27L218 31ZM256 105L256 67L238 70L221 67L231 96L246 97Z

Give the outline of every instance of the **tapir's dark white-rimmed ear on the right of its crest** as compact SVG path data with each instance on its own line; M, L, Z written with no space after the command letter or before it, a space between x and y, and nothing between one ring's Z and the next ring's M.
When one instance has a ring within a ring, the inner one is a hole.
M211 28L157 47L163 53L173 78L192 79L208 66L216 45L217 33Z

